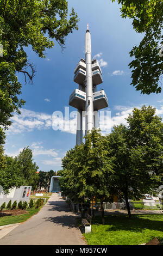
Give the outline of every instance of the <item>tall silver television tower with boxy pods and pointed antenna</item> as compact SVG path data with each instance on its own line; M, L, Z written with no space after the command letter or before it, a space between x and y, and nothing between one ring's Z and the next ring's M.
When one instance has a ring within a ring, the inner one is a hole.
M85 34L85 59L80 59L74 69L74 82L79 84L70 95L69 105L78 109L76 144L83 142L83 118L85 135L93 127L99 128L98 110L108 107L104 90L97 92L97 85L103 82L102 71L96 59L91 58L91 34L89 25Z

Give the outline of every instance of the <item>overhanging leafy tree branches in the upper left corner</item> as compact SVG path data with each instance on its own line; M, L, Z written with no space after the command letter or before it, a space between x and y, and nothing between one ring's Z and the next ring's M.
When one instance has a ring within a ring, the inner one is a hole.
M39 57L45 57L46 48L52 48L55 39L64 47L65 38L78 29L77 14L72 11L68 19L66 0L2 0L0 2L0 125L7 129L10 118L25 101L17 72L24 74L25 81L33 81L35 67L29 63L25 47L32 46Z

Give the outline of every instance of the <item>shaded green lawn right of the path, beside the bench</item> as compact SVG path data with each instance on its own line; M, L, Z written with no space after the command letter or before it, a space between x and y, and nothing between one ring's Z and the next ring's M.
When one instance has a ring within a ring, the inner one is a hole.
M163 240L163 215L127 215L105 216L105 225L101 217L91 224L92 233L83 234L88 245L140 245L157 237Z

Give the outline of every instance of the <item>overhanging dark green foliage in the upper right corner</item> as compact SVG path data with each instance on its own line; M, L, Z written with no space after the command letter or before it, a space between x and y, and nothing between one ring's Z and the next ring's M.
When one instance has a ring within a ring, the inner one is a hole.
M115 2L115 0L112 0ZM129 63L132 70L131 85L143 94L161 93L160 78L163 70L163 27L162 0L118 0L122 4L121 16L133 21L133 28L138 33L145 33L139 46L134 46Z

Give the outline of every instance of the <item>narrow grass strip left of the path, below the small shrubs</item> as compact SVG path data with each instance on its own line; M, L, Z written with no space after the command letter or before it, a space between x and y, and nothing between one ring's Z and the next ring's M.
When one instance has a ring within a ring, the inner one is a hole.
M0 217L0 226L27 221L28 218L30 218L32 215L37 214L37 212L39 212L40 209L41 208L28 209L27 210L28 211L27 214L21 214L21 215L17 215L17 216L4 216L4 217Z

